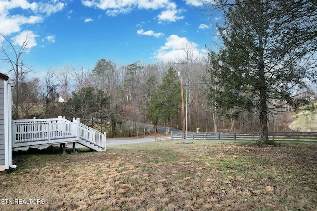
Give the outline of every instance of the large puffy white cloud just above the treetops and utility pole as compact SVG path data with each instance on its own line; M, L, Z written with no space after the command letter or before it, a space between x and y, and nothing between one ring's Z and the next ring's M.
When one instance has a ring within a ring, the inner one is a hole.
M164 46L160 47L155 53L154 58L162 61L183 61L186 60L186 51L190 50L193 58L203 57L205 50L198 49L198 45L190 42L185 37L171 35L166 39Z

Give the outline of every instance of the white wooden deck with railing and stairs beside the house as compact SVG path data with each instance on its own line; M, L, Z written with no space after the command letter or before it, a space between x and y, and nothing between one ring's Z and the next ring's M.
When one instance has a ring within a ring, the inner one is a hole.
M79 143L95 151L106 150L106 133L59 116L50 119L12 120L12 148Z

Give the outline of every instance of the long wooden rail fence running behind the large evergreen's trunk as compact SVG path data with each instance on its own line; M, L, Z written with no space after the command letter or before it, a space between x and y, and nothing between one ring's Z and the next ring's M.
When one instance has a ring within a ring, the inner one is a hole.
M268 138L274 141L311 141L317 142L317 132L269 132ZM184 133L175 133L172 139L186 139ZM205 140L259 140L259 132L207 132L207 133L188 133L187 139Z

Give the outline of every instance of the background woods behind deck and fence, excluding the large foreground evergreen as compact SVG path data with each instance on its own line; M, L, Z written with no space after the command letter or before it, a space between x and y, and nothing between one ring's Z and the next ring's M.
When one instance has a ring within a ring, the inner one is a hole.
M202 80L207 74L206 63L184 63L181 71L185 104L188 81L188 130L232 131L230 110L214 110L208 99L207 85ZM13 108L14 119L76 117L106 131L108 137L128 136L136 122L182 129L178 64L122 65L100 59L92 70L65 65L60 70L48 70L44 78L25 76L19 82L20 101ZM271 130L289 130L291 107L280 111L270 116ZM234 125L236 131L258 131L259 121L243 112L234 119Z

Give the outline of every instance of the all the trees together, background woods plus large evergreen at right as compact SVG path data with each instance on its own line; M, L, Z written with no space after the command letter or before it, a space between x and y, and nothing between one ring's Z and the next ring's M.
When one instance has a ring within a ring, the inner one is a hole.
M29 78L19 60L27 38L15 50L2 35L16 56L1 42L15 80L13 118L76 117L108 137L128 135L136 122L180 128L182 76L188 131L259 131L269 143L268 131L289 130L291 112L316 102L317 1L218 0L208 9L222 14L222 43L204 60L185 43L177 63L103 58L92 70L65 65Z

